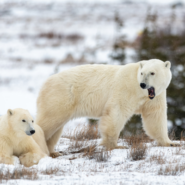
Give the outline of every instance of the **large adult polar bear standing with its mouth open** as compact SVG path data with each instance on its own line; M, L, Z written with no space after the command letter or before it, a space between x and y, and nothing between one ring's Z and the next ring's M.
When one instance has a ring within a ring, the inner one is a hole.
M152 59L124 66L82 65L51 76L37 101L36 123L54 152L63 126L77 117L100 118L102 145L120 148L117 139L127 120L141 114L146 133L161 146L168 138L166 88L171 63Z

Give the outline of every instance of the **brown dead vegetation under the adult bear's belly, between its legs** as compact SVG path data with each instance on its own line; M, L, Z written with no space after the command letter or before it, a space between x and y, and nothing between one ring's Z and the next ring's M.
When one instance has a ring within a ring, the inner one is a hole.
M97 162L106 162L111 156L110 151L98 148L97 139L100 138L98 125L78 126L73 132L68 132L63 137L70 139L69 147L65 151L68 154L79 154L78 157L94 159ZM73 159L76 157L70 158L70 160Z

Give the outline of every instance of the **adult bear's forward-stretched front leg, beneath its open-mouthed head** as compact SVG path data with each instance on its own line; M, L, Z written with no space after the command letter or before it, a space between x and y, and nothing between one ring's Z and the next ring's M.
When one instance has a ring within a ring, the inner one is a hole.
M159 146L180 146L168 137L166 92L148 100L142 110L143 128Z

